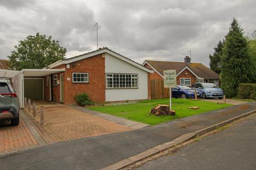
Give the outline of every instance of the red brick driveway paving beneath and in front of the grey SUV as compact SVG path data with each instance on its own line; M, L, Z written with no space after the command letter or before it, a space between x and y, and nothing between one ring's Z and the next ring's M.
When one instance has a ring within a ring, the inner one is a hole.
M0 155L36 146L37 141L21 117L18 126L0 122Z

